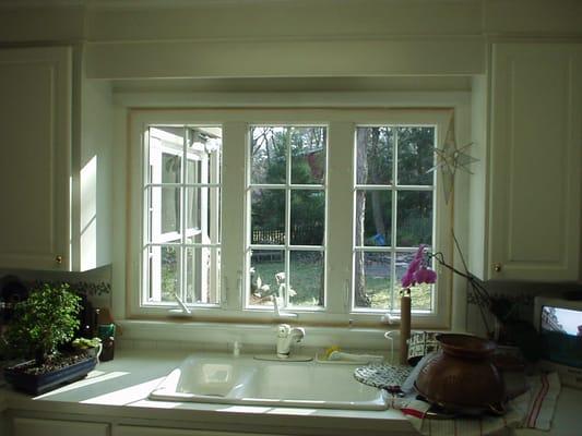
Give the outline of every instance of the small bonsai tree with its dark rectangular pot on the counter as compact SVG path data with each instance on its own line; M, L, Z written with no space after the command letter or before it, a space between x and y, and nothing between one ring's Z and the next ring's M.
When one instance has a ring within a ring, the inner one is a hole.
M43 393L83 378L97 363L85 351L63 352L79 328L80 298L69 284L43 283L14 307L8 343L32 360L4 370L4 378L16 389ZM34 359L33 359L34 358Z

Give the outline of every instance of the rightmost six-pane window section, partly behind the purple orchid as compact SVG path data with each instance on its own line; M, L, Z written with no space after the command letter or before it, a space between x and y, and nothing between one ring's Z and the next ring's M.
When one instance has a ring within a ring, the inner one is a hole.
M354 310L397 308L418 245L435 246L436 133L433 125L356 129ZM413 310L432 310L432 286L411 291Z

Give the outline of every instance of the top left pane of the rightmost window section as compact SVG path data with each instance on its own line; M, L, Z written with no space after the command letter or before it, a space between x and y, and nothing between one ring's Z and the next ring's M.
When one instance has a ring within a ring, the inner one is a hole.
M393 129L388 126L357 128L357 184L393 184Z

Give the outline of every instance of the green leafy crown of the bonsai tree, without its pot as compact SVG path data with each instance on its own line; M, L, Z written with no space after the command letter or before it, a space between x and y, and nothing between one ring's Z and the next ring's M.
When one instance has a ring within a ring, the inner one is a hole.
M79 328L80 301L67 283L58 287L44 283L16 304L8 342L40 366L57 347L73 338Z

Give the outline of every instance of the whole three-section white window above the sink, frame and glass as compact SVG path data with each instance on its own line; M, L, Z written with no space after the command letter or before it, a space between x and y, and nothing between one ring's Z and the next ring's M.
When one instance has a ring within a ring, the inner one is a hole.
M380 323L419 244L450 254L433 147L450 111L133 110L128 312ZM413 289L443 325L450 280Z

